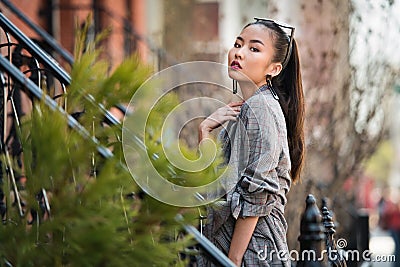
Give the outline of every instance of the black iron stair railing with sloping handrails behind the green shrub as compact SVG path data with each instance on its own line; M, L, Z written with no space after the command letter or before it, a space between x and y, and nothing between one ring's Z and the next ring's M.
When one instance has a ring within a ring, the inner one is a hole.
M67 86L71 83L71 77L70 75L52 58L50 55L48 55L46 52L44 52L37 44L35 44L30 38L28 38L26 35L24 35L10 20L7 19L4 14L0 13L0 28L5 32L5 35L7 36L8 42L4 44L4 47L7 47L7 55L5 57L0 57L0 71L1 73L6 73L6 77L4 75L0 75L3 82L2 82L2 107L1 110L3 112L3 118L2 124L3 129L2 129L2 140L1 140L1 149L2 152L5 153L6 159L3 160L3 162L8 163L7 168L9 168L8 174L13 176L13 171L12 171L12 165L11 165L11 156L8 155L8 149L6 148L6 143L5 143L5 131L4 129L6 128L5 125L5 120L7 117L7 111L6 111L6 102L8 101L8 97L5 97L7 95L7 90L8 93L11 92L8 86L10 86L12 83L14 85L19 85L20 89L23 90L24 92L27 93L32 99L42 99L44 100L44 103L50 107L52 110L55 112L59 112L64 115L64 117L68 121L68 125L71 127L71 129L77 131L83 138L90 140L93 142L96 147L98 153L103 156L104 158L110 158L113 157L113 153L106 147L102 146L101 143L93 137L73 116L68 114L60 105L57 104L57 102L51 98L49 95L45 94L43 90L40 88L40 77L38 77L43 69L39 68L39 65L37 64L36 67L32 68L32 72L37 72L37 75L31 75L29 78L26 77L26 74L21 72L19 68L15 66L15 62L13 62L12 59L12 52L11 52L11 47L12 46L18 46L18 47L23 47L23 49L26 49L29 51L29 53L32 55L32 58L25 58L21 55L19 57L15 57L15 59L20 59L24 61L23 63L27 63L28 61L32 62L40 62L45 66L45 68L48 70L51 75L56 77L59 82L63 86ZM17 41L18 44L11 43L9 35L12 35ZM7 80L7 81L6 81ZM11 82L12 80L12 82ZM101 112L103 113L105 117L105 121L111 125L117 126L117 127L122 127L120 122L108 111L106 110L101 104L96 103L94 98L91 95L85 95L86 99L89 100L93 105L96 105ZM11 101L13 101L13 98L10 98ZM12 103L12 106L15 106ZM14 115L16 116L16 120L18 121L18 113L21 113L20 110L14 109L13 110ZM139 147L142 147L145 149L145 145L141 142L141 140L135 136L132 136L133 141L135 141L137 144L139 144ZM16 197L16 204L18 206L19 212L23 213L22 207L21 207L21 201L19 199L19 192L18 188L16 185L16 178L13 176L11 177L12 180L12 185L13 185L13 191L14 195ZM0 192L0 197L2 197L4 194L3 192ZM40 195L42 197L38 198L40 200L39 205L43 206L45 209L48 205L48 201L46 199L46 192L40 192ZM0 201L0 211L3 212L3 210L6 208L2 200ZM47 203L47 205L46 205ZM5 213L5 210L4 210ZM50 210L47 210L47 213L50 213ZM199 246L203 251L206 252L207 255L214 261L217 265L219 266L234 266L233 263L223 254L221 253L213 244L211 244L205 237L203 237L196 228L183 224L184 229L187 231L188 234L191 234L194 236L196 241L198 242Z

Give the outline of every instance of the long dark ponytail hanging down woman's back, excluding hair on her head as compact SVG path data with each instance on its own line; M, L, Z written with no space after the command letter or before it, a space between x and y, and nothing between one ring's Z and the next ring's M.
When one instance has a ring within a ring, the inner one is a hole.
M290 160L292 163L291 177L294 182L300 180L304 165L304 94L301 80L300 59L297 43L292 42L292 53L287 66L278 76L272 78L272 85L279 95L279 103L286 119L287 138Z

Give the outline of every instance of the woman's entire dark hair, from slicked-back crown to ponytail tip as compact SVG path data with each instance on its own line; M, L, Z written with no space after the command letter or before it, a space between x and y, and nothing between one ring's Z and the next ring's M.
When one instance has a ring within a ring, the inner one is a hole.
M290 42L288 34L281 25L273 20L256 19L255 22L247 24L245 28L254 24L264 25L272 33L275 52L272 62L280 62L283 65L279 75L272 78L272 86L279 96L279 103L285 115L292 165L290 175L292 181L297 182L300 180L305 154L304 94L297 43L294 39ZM289 56L289 61L287 61L287 56Z

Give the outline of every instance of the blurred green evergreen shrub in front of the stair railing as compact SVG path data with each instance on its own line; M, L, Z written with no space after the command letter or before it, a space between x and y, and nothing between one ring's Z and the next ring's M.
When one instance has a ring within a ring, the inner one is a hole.
M84 109L80 123L114 156L100 157L96 145L71 130L64 115L35 102L21 129L23 216L11 205L9 183L3 183L8 212L0 226L0 265L183 265L179 252L189 238L177 238L181 230L174 219L182 209L140 193L126 170L121 127L104 125L98 106L84 97L91 94L106 109L127 103L150 71L132 57L109 75L99 50L93 44L85 49L76 54L67 110ZM168 162L162 159L160 166L168 168ZM50 211L39 205L40 192Z

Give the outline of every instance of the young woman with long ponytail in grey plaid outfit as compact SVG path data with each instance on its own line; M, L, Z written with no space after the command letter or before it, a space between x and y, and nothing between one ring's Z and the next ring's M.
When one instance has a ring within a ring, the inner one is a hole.
M206 236L237 266L290 266L283 215L300 179L304 99L294 28L268 19L246 25L228 54L242 91L199 125L199 140L220 133L236 185L211 209ZM228 141L227 141L228 140ZM212 266L200 258L199 266Z

